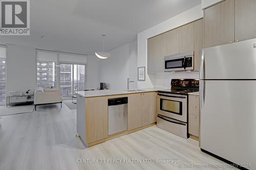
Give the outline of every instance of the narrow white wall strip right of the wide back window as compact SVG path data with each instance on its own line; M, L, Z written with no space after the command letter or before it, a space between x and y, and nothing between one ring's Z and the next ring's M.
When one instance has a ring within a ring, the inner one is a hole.
M87 89L99 88L99 59L96 56L87 57Z

